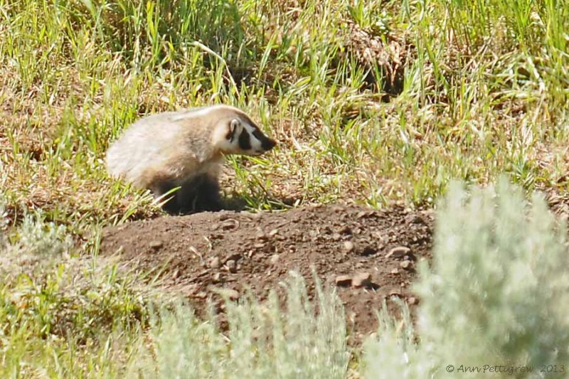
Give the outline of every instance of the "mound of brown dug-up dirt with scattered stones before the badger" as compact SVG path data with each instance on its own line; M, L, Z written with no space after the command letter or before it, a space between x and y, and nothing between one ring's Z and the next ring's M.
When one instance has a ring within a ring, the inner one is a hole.
M388 295L413 304L409 284L417 260L430 258L432 216L403 208L371 210L327 205L281 213L223 211L141 220L103 233L101 251L120 252L140 269L160 272L198 314L216 289L238 298L250 287L261 299L291 269L307 279L311 267L338 287L349 327L375 331L376 309ZM312 293L311 293L312 292Z

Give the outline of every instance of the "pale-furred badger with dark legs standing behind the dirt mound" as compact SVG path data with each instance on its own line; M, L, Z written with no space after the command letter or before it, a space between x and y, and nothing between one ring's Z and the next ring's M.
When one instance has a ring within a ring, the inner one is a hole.
M163 205L168 213L213 211L223 208L218 183L223 155L258 156L276 144L242 110L213 105L137 120L105 160L110 176L149 189L155 198L169 198ZM170 194L174 188L179 189Z

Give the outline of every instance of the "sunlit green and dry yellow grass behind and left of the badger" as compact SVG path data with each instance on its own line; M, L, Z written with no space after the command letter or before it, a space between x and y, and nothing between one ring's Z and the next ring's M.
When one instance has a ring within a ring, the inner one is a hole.
M137 117L249 112L280 142L229 159L254 210L563 194L568 30L557 0L0 0L0 376L119 375L144 334L148 289L90 237L160 213L105 173Z

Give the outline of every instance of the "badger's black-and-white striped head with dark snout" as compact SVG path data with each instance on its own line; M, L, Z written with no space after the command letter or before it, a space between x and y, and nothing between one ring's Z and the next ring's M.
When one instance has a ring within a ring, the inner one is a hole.
M223 154L261 155L277 144L245 115L224 119L218 130L217 145Z

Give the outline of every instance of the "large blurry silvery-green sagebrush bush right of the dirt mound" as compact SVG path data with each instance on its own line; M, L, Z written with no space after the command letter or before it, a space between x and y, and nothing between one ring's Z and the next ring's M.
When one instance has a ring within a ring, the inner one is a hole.
M472 196L452 186L438 210L432 267L423 262L415 284L417 333L407 314L402 324L382 314L378 341L366 350L368 377L380 368L439 376L447 365L533 368L519 378L548 365L561 370L569 358L565 230L541 196L528 203L506 181Z

